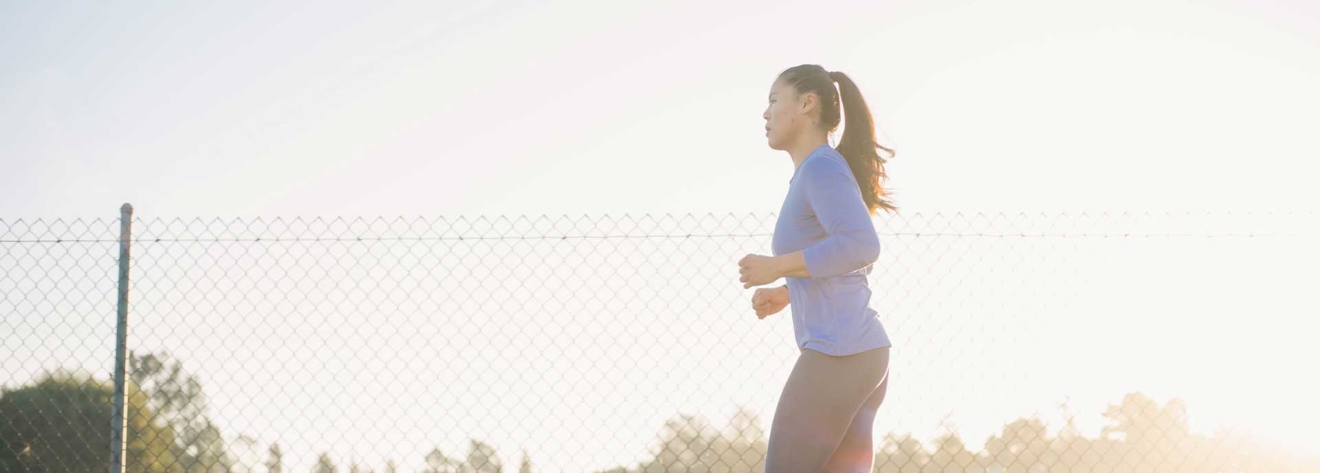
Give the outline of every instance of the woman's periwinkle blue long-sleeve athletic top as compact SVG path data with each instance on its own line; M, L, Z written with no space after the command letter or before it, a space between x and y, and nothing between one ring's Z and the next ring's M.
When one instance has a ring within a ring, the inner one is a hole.
M866 278L880 240L853 170L829 145L812 150L788 179L771 250L801 250L810 274L784 278L799 349L845 356L891 347Z

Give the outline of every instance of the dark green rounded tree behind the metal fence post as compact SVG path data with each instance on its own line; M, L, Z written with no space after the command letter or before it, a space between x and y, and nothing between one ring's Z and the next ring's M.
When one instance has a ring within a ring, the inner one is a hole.
M106 470L114 394L110 382L58 372L0 391L0 472ZM124 404L127 470L181 473L173 432L152 423L156 414L133 382L125 383Z

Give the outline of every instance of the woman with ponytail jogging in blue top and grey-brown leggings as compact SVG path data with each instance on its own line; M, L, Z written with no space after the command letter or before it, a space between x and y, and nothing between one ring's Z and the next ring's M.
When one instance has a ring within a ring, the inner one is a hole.
M830 148L841 107L843 137ZM817 65L780 72L762 117L770 148L787 152L795 169L775 256L748 254L738 266L744 289L785 278L758 289L751 304L760 319L791 306L800 349L771 423L766 473L870 473L891 345L866 277L880 252L871 215L896 209L884 199L886 158L876 150L891 158L894 150L875 142L857 84Z

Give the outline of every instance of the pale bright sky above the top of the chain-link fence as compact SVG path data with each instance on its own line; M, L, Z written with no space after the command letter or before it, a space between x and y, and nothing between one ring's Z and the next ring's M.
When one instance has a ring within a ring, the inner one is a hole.
M1320 171L1312 1L30 3L0 45L5 220L768 213L799 63L858 82L906 213L1315 209Z

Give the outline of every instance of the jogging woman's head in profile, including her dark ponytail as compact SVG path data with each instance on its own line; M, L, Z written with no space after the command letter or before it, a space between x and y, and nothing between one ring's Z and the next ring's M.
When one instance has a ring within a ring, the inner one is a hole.
M789 67L771 86L770 104L762 117L766 119L770 148L779 150L789 149L804 137L833 133L842 119L843 137L834 149L847 159L867 211L898 209L884 199L887 192L882 186L887 178L884 162L895 153L875 142L871 111L847 75L817 65ZM884 150L888 157L880 157L878 150Z

